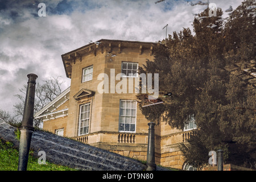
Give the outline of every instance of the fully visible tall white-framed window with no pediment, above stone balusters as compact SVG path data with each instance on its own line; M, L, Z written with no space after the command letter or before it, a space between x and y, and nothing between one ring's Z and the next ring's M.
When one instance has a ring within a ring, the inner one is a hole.
M124 102L124 107L121 107L121 102ZM127 103L129 102L130 102L130 108L127 108ZM133 106L134 102L135 102L135 106ZM137 101L136 100L120 100L118 131L123 133L135 133L136 122L137 122ZM129 124L129 130L125 130L126 124ZM123 127L121 125L123 125ZM131 131L131 125L134 125L134 131Z

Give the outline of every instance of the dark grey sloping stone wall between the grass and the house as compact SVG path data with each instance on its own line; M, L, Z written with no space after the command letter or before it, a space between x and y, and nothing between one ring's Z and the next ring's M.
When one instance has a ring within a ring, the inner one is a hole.
M18 147L14 131L15 127L0 120L0 138L13 142ZM146 168L138 160L43 131L33 133L31 148L35 151L35 156L39 151L44 151L49 162L82 170L137 171Z

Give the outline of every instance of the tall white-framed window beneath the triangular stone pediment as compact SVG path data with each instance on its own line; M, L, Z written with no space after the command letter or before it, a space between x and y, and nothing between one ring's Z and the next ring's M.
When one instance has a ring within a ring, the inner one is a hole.
M82 111L82 107L85 107L85 106L87 106L88 110ZM80 105L80 108L79 108L79 130L78 130L79 136L86 135L89 133L89 122L90 122L90 102ZM83 128L82 132L81 132L81 128ZM86 131L84 132L84 130Z

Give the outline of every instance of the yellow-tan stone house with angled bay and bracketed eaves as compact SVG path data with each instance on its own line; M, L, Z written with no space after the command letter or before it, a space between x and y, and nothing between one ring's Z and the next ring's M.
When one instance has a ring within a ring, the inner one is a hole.
M148 121L137 101L138 67L154 57L156 43L101 39L61 55L71 85L34 115L57 135L146 160ZM122 73L122 74L121 74ZM178 144L196 127L155 126L155 161L185 168Z

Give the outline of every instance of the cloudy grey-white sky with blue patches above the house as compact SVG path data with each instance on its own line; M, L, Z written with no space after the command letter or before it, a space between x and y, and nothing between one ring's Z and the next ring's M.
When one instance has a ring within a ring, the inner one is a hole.
M63 53L100 39L158 42L166 36L166 24L168 34L191 27L195 14L207 8L199 1L156 1L0 0L0 109L13 112L14 94L27 84L28 73L38 75L37 82L61 76L67 88ZM242 0L209 2L228 16L225 10ZM45 17L38 15L39 3L46 5Z

